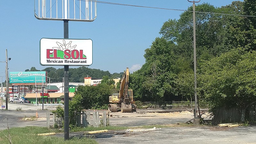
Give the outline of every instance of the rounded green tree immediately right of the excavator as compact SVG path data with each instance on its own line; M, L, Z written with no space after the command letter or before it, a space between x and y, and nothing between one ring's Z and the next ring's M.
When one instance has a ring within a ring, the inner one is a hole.
M171 41L157 37L151 47L145 50L146 63L131 75L130 86L134 89L135 99L150 101L170 99L176 76L173 73L175 71L173 67L175 55L172 49L174 46L175 44Z

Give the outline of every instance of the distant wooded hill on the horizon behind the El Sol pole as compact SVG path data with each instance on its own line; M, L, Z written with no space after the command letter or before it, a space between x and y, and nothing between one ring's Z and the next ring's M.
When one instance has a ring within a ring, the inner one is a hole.
M25 71L46 71L47 76L51 78L51 83L62 82L64 76L64 68L48 67L42 70L37 70L35 67L26 69ZM103 76L109 76L112 79L121 77L124 72L110 74L109 71L103 71L100 69L92 69L87 67L69 68L69 82L83 83L84 77L100 78Z

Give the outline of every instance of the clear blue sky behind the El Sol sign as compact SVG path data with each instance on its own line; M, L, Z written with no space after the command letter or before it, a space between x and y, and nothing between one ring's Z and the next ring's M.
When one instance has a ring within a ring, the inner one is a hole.
M187 0L101 1L182 10L192 5ZM231 2L232 0L201 0L199 4L209 3L220 7ZM88 68L119 73L129 67L132 72L145 63L145 49L160 36L159 30L163 23L168 19L179 19L181 13L97 4L97 18L93 22L69 21L69 38L92 39L93 63ZM63 38L63 21L37 20L34 17L33 0L1 1L0 29L0 61L5 61L7 49L8 57L12 58L8 65L9 72L25 71L31 67L39 70L50 67L39 63L39 41L41 38ZM4 62L0 62L0 76L5 79Z

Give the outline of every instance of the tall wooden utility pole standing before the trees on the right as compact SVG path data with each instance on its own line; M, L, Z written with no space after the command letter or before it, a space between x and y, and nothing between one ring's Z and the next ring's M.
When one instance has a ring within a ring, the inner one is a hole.
M193 3L193 32L194 32L194 77L195 77L195 114L194 114L194 125L200 124L200 119L197 117L197 93L196 93L196 12L195 12L195 3L199 3L201 0L189 1Z

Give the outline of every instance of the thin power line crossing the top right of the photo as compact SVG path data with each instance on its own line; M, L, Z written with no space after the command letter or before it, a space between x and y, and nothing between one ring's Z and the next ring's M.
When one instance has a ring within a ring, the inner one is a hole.
M78 0L77 0L78 1ZM85 0L81 0L84 1ZM104 1L94 1L94 0L89 0L94 3L100 3L100 4L113 4L113 5L122 5L122 6L132 6L132 7L142 7L142 8L152 8L152 9L160 9L160 10L172 10L172 11L182 11L182 12L193 12L193 11L188 11L188 10L181 10L181 9L169 9L169 8L160 8L160 7L152 7L152 6L141 6L141 5L132 5L132 4L120 4L120 3L111 3L111 2L104 2ZM243 16L243 17L256 17L256 16L251 16L251 15L242 15L242 14L230 14L230 13L217 13L217 12L200 12L200 11L195 11L198 13L209 13L209 14L220 14L220 15L233 15L233 16Z

